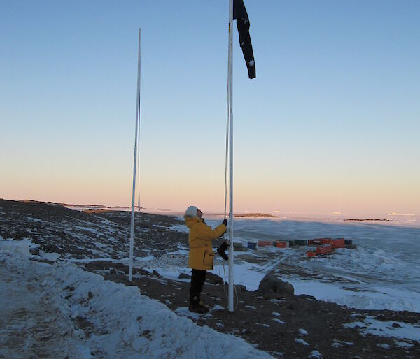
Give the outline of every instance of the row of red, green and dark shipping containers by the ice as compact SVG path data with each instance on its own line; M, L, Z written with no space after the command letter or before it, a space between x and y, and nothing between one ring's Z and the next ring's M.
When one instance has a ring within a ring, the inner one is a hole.
M234 243L235 244L235 243ZM336 248L354 248L353 240L344 238L314 238L313 240L258 240L258 242L248 242L249 249L257 249L257 247L274 246L277 248L287 248L293 246L316 246L316 249L307 251L308 256L318 256L332 252Z

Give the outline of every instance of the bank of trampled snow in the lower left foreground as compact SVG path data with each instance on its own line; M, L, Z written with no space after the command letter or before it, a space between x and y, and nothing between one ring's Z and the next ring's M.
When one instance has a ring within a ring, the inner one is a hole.
M30 261L29 246L0 237L1 358L271 358L135 286L68 262Z

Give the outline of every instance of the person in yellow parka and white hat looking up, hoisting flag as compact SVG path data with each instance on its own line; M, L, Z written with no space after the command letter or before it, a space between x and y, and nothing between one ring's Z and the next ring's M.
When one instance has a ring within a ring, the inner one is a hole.
M186 225L190 228L190 235L188 242L190 243L190 252L188 255L188 267L193 269L191 274L190 287L190 312L207 313L209 308L203 305L200 300L200 293L202 291L204 281L206 281L207 270L213 270L214 266L214 251L211 249L211 241L223 235L226 232L228 221L223 220L223 223L214 229L204 222L200 208L190 206L186 210L184 219ZM228 244L223 242L219 247L218 252L223 251L223 258L228 256L224 251L228 248ZM222 255L222 254L221 254Z

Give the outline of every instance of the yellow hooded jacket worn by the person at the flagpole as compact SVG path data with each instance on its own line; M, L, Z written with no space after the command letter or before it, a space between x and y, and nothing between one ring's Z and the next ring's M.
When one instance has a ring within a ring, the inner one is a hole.
M212 270L214 251L211 249L211 241L223 235L226 226L221 224L212 230L204 223L204 219L198 217L184 217L184 219L187 227L190 228L188 267L197 270Z

